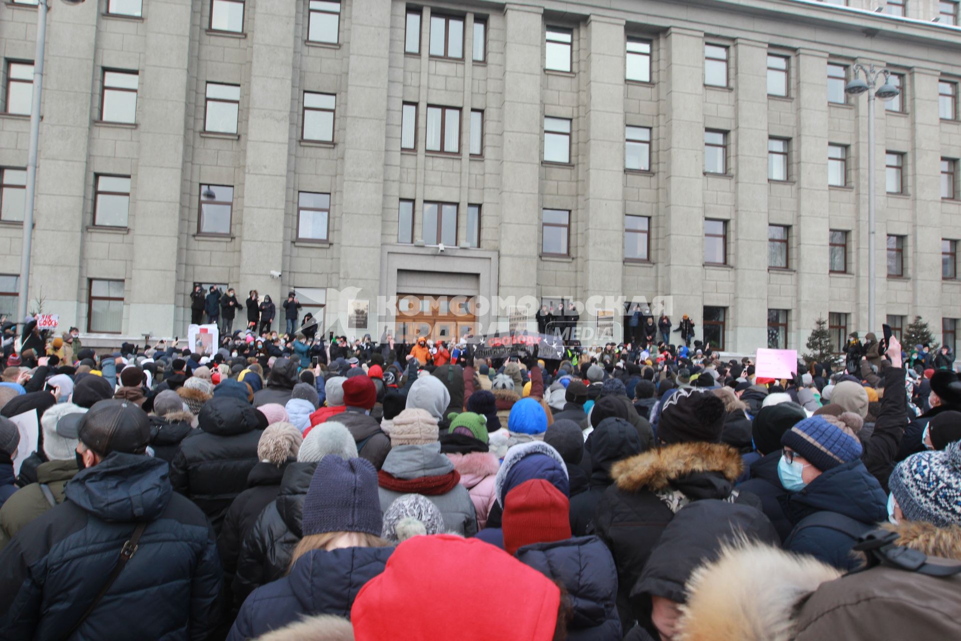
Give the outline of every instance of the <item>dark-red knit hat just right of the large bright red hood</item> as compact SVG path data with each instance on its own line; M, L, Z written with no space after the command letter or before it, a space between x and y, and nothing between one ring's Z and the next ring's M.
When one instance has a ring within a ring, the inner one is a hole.
M570 513L571 502L549 481L524 481L504 500L504 549L513 555L531 543L571 538Z

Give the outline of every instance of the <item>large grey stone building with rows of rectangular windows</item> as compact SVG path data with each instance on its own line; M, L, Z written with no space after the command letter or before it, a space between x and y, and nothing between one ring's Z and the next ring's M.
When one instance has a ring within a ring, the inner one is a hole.
M671 296L727 350L803 349L870 329L875 153L878 324L953 342L958 3L878 2L52 2L30 307L184 335L193 284L295 289L339 331L356 287L359 334L379 295ZM0 4L4 310L36 12ZM874 150L855 63L901 89Z

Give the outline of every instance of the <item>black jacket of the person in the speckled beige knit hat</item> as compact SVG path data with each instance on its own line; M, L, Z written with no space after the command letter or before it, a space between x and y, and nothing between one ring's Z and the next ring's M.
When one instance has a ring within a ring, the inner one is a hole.
M228 586L234 580L237 556L240 555L240 544L243 543L244 536L257 521L263 508L277 499L277 494L281 491L283 471L291 462L292 458L278 467L269 461L259 461L247 475L247 489L237 495L227 510L223 528L217 537L217 551L224 566L224 581Z

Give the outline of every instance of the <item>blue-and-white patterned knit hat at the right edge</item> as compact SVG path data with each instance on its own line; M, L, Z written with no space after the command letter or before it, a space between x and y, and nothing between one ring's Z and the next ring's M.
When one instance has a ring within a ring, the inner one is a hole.
M961 525L961 442L908 456L895 467L888 485L905 520L939 528Z

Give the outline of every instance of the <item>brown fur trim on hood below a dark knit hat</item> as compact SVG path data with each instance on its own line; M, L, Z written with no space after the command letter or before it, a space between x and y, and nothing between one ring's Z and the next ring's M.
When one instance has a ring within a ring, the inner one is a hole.
M723 443L676 443L615 463L610 476L626 492L666 489L671 481L699 472L718 472L734 482L744 471L737 450Z

